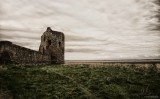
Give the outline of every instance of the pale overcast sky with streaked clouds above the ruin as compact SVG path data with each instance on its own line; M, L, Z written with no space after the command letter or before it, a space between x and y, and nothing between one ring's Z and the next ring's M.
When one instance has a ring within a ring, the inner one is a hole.
M66 36L66 60L160 59L159 9L156 0L0 0L0 40L38 50L51 27Z

